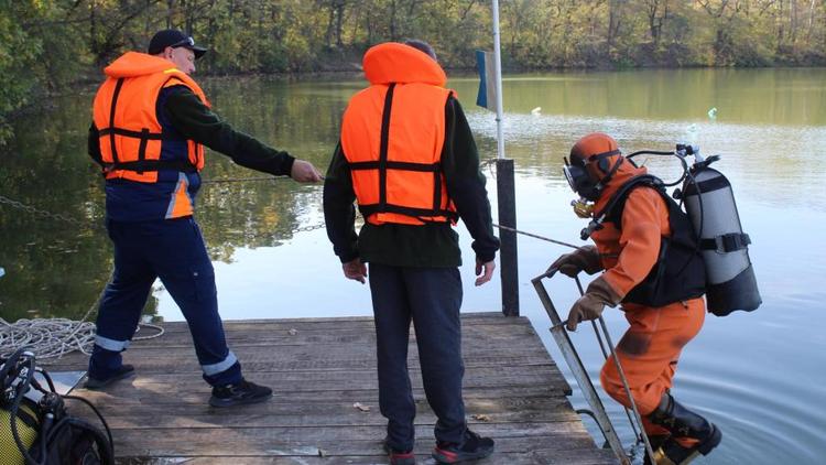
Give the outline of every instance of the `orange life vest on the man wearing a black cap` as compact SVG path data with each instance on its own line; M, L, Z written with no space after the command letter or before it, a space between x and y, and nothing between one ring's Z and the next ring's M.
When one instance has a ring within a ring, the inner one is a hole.
M195 80L164 58L137 52L126 53L104 72L107 79L95 96L94 121L107 180L155 183L157 170L191 172L204 167L204 148L192 140L186 141L186 153L167 149L161 159L163 140L170 137L155 110L161 89L181 85L209 106Z

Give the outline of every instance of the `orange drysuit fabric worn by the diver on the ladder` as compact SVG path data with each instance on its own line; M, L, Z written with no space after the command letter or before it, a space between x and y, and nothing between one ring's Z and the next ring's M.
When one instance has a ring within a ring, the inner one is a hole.
M609 165L612 166L618 156L610 156ZM605 208L613 193L631 177L645 173L644 167L635 167L623 160L597 201L595 210L599 213ZM640 186L629 194L621 224L622 228L618 229L613 224L605 223L591 238L606 270L602 279L617 295L624 296L656 263L661 238L671 236L669 208L655 190ZM646 433L667 434L665 429L650 423L646 417L656 409L663 392L671 388L683 347L703 326L705 303L703 298L697 298L660 307L623 303L621 309L631 327L617 345L617 357ZM612 358L602 366L600 381L609 396L630 407Z

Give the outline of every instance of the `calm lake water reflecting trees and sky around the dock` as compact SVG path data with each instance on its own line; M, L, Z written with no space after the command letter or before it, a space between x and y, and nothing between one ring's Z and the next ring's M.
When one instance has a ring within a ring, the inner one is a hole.
M482 156L496 156L496 122L472 105L475 78L453 79ZM206 83L216 109L239 129L326 167L340 113L358 79L284 83L221 79ZM90 94L61 99L54 111L20 121L21 137L3 153L0 195L78 218L74 226L0 204L0 315L83 316L111 266L97 228L100 180L85 154ZM573 194L561 159L580 136L601 130L626 151L669 150L693 138L730 179L743 227L753 245L763 305L726 318L709 315L684 350L675 396L722 429L720 447L700 463L823 463L826 456L826 71L645 71L512 76L504 82L506 149L517 165L521 229L579 244L585 226L570 212ZM541 109L532 113L531 110ZM717 119L707 116L717 108ZM535 113L535 115L534 115ZM674 163L650 160L664 177ZM211 154L206 177L257 174ZM492 181L492 175L489 176ZM494 183L489 187L494 190ZM320 186L291 181L216 184L203 190L198 219L215 260L219 301L228 320L370 314L367 286L346 281L320 225ZM496 193L491 192L494 204ZM500 283L472 286L469 238L459 231L467 264L465 311L497 311ZM520 238L520 299L555 355L547 317L530 284L559 246ZM561 311L575 286L548 283ZM159 285L148 312L182 320ZM624 331L619 311L606 316L615 340ZM596 379L601 354L584 327L574 335ZM193 364L195 360L193 360ZM575 385L572 380L572 385ZM572 398L585 407L582 398ZM606 401L626 442L630 428ZM586 420L589 423L589 420Z

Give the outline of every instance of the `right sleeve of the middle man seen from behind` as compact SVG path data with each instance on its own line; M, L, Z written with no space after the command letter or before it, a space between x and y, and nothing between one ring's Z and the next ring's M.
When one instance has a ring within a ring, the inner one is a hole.
M447 193L474 238L472 248L481 262L493 260L499 239L493 235L486 180L479 167L479 152L459 101L450 97L445 106L446 133L442 171Z

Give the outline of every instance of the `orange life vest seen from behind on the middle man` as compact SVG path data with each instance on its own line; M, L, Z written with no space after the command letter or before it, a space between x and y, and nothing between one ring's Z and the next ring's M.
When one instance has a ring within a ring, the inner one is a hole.
M359 210L373 225L455 223L441 165L453 94L445 72L400 43L371 47L363 68L371 85L350 99L341 126Z

